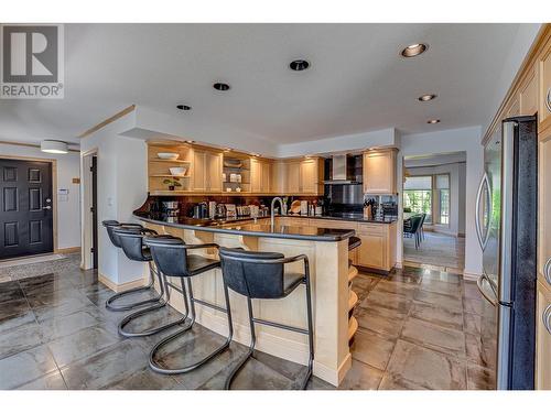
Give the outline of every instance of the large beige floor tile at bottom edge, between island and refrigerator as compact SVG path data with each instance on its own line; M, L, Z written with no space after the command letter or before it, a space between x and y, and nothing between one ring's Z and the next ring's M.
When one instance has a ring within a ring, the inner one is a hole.
M466 389L466 362L398 340L387 372L395 382L440 390Z

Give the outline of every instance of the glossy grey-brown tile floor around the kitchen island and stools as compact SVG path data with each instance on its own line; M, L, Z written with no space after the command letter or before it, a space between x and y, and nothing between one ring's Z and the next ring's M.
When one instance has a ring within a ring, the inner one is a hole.
M480 365L478 296L454 274L406 269L389 278L360 274L354 282L360 328L353 367L341 389L485 389L491 372ZM0 389L220 389L246 347L230 349L204 367L180 376L148 368L154 338L123 339L117 322L125 313L105 309L112 294L94 272L64 269L0 283ZM136 328L179 314L158 313ZM186 348L214 348L223 338L201 326L163 362L201 356ZM199 343L201 346L194 346ZM247 363L238 389L288 389L304 369L266 354ZM311 389L333 389L313 379Z

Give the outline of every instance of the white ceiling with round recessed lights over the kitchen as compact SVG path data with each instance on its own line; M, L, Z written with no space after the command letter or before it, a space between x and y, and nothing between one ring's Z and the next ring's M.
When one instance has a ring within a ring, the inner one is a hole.
M231 129L277 144L484 124L497 109L491 97L508 46L533 26L67 24L65 98L0 100L0 140L78 142L131 104L185 118L191 130L208 124L213 133ZM429 44L425 54L399 56L419 42ZM295 58L312 68L291 72ZM214 90L216 80L231 89ZM419 102L425 93L439 98ZM179 102L193 110L177 111ZM429 126L430 118L442 122Z

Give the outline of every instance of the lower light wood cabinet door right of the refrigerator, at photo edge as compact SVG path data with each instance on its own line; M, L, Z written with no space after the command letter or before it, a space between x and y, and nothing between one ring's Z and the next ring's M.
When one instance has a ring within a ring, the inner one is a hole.
M536 389L551 390L551 293L538 283L536 320Z

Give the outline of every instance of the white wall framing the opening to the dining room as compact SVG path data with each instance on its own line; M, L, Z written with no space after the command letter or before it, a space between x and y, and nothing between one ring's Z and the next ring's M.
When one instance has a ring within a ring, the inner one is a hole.
M482 129L479 127L402 135L400 152L401 156L425 155L428 151L433 153L466 152L465 274L471 276L482 273L482 250L475 229L476 192L484 169L484 148L480 144L480 135ZM401 177L401 173L398 176ZM401 240L401 233L399 237ZM402 261L402 256L403 251L399 249L398 262Z

